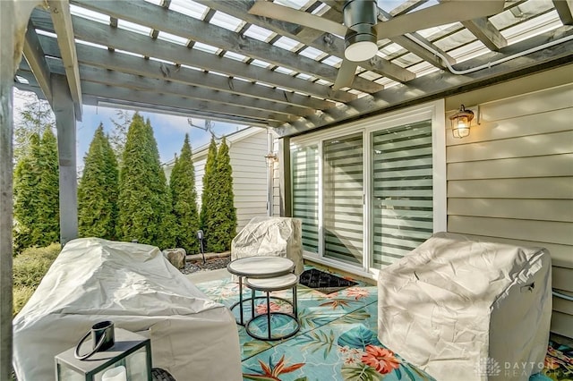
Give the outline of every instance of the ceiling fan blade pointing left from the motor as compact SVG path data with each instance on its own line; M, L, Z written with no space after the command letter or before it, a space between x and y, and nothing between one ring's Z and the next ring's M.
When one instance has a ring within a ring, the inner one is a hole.
M346 30L348 30L344 25L339 24L338 22L330 21L320 16L315 16L312 13L297 11L293 8L274 4L268 1L255 1L249 10L249 13L257 16L269 17L278 21L292 22L304 27L336 34L343 38L346 34Z

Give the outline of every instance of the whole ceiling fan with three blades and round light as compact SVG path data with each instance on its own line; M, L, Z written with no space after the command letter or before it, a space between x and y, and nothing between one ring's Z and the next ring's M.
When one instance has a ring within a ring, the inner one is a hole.
M455 21L490 16L500 13L503 4L504 0L444 0L389 21L378 21L376 0L346 0L343 6L344 24L269 1L255 1L249 13L344 36L344 59L333 86L333 89L337 90L352 84L358 63L370 60L376 55L378 40Z

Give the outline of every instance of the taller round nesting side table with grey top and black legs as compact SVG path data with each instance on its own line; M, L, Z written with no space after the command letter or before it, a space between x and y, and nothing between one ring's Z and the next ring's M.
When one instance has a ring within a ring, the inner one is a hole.
M239 301L231 306L231 310L239 306L240 318L237 324L244 326L243 303L251 301L252 298L243 298L243 278L274 278L277 276L291 274L295 270L295 262L288 258L274 256L244 257L231 261L227 265L227 271L239 277ZM263 297L260 297L263 298ZM254 318L254 311L251 311Z

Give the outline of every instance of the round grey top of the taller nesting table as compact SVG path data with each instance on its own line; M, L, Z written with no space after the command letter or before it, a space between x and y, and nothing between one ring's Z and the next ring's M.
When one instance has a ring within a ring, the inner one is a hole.
M295 262L283 257L244 257L231 261L227 271L234 275L251 278L270 278L286 275L295 268Z

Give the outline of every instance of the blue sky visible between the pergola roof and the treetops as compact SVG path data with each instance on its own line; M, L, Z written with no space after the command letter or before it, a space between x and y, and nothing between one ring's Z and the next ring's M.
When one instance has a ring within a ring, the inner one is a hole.
M13 97L14 123L17 123L19 110L23 108L26 97L35 97L33 93L15 93ZM127 110L130 114L134 111ZM169 114L156 114L140 112L144 119L150 118L155 140L158 142L158 150L161 164L172 160L175 153L179 155L183 147L185 133L189 133L189 140L192 151L209 144L210 133L200 128L192 127L187 122L187 117ZM109 133L114 130L115 124L112 119L120 123L117 117L117 109L104 106L83 106L81 122L76 122L76 155L78 167L83 166L83 157L90 149L90 143L99 123L103 123L104 131ZM197 126L204 126L205 121L199 118L192 118L192 123ZM235 123L212 122L213 131L220 137L232 132L244 129L246 126Z

